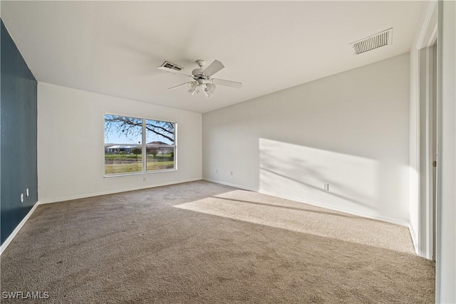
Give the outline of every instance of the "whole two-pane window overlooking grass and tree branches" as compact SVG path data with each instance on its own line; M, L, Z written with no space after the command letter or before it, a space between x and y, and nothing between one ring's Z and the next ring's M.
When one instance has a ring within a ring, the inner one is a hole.
M175 170L175 122L105 114L105 175Z

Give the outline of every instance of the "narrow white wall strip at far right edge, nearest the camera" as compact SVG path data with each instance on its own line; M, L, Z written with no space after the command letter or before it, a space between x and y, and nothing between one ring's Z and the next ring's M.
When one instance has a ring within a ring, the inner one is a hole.
M439 2L440 151L437 160L437 303L456 303L456 3Z

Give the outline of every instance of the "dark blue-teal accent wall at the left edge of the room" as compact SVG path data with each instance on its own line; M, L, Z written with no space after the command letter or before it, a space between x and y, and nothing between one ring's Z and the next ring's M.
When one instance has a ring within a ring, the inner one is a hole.
M37 82L1 21L1 243L38 201ZM26 196L26 189L29 196ZM24 194L24 203L20 196Z

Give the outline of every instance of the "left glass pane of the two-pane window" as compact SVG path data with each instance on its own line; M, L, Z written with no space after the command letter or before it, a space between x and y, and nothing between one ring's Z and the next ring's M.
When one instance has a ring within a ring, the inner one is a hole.
M142 119L105 115L105 174L142 172Z

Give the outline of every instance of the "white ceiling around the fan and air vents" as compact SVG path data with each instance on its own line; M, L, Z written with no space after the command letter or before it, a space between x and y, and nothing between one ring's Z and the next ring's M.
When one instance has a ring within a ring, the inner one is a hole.
M1 18L38 81L209 112L410 51L424 1L1 1ZM393 44L350 44L393 27ZM214 97L168 91L218 59Z

